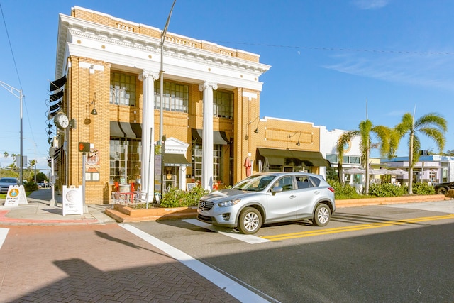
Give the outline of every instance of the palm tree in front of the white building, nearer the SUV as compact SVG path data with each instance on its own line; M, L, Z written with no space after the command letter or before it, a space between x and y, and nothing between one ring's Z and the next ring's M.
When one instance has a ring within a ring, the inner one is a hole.
M378 138L378 143L372 143L371 133L375 134ZM339 159L338 159L338 175L339 181L343 183L342 178L342 163L343 163L343 152L346 144L350 144L352 139L356 136L360 136L360 149L361 149L361 162L365 167L366 184L365 194L369 194L369 155L372 148L380 148L380 155L390 156L397 149L397 135L391 128L387 126L373 126L372 122L367 119L366 121L360 122L358 130L348 131L343 133L338 138L338 144L336 146Z

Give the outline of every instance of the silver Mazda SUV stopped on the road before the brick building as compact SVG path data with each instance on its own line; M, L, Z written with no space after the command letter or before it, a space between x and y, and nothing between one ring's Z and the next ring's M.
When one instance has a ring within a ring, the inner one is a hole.
M325 226L335 210L334 189L321 175L265 172L201 197L197 219L252 234L262 224L300 219Z

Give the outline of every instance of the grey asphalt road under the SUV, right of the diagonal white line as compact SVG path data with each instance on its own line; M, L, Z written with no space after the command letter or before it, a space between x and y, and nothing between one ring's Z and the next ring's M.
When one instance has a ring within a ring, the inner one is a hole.
M454 203L338 209L255 236L196 220L131 224L275 302L454 302Z

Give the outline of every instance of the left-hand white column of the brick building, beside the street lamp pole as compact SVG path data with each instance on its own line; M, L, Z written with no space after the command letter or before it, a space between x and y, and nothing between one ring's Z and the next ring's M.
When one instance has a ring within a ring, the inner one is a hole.
M148 202L153 201L155 193L155 151L150 150L150 143L155 138L155 79L159 72L143 70L139 80L143 81L143 109L142 109L142 161L140 165L141 191L148 192ZM150 131L151 130L151 131ZM151 157L150 157L151 153Z

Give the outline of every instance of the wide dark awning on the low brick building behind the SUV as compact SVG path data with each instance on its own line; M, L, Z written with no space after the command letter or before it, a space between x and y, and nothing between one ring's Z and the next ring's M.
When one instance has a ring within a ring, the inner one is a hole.
M304 150L278 150L273 148L257 148L258 160L270 165L293 165L293 166L326 166L331 163L323 158L321 153Z

